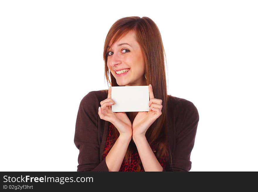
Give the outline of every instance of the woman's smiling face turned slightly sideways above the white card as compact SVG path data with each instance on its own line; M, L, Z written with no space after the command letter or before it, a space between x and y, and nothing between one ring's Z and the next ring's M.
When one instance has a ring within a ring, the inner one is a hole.
M144 55L136 41L135 32L128 32L107 49L107 65L119 86L146 85ZM117 70L129 71L117 74Z

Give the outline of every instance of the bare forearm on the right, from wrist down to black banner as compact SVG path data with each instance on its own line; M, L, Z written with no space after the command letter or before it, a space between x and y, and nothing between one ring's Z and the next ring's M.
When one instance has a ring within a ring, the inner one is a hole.
M163 171L163 167L160 165L155 154L153 153L145 136L135 137L133 141L138 149L140 159L145 171Z

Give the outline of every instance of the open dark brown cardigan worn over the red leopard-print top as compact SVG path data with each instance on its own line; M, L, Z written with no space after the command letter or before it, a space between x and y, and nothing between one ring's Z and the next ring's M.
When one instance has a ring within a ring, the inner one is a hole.
M100 119L98 114L100 102L108 96L107 91L91 91L80 102L74 135L75 146L79 149L77 171L108 171L103 152L110 122ZM189 171L190 155L199 122L198 110L191 101L171 95L167 105L169 146L173 164L163 171ZM175 130L171 126L172 119Z

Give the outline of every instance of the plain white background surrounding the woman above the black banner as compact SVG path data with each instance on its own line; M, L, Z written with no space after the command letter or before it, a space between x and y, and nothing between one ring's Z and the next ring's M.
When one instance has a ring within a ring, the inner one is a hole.
M257 1L0 1L1 171L77 171L79 103L108 89L118 19L159 27L168 94L196 106L191 171L258 171Z

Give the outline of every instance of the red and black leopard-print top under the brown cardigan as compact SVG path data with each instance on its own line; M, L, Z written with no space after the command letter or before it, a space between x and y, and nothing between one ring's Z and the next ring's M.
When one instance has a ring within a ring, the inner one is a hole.
M105 150L108 149L108 147L111 144L112 145L114 144L114 142L110 141L111 140L111 135L113 134L114 129L116 129L116 127L114 127L114 125L112 123L110 123L109 128L108 128L108 136L107 136ZM156 152L156 146L151 145L151 149L154 153ZM105 158L108 155L108 152L103 154L103 158ZM129 164L129 161L128 161L128 163L126 163L125 160L123 160L119 171L128 171L128 172L129 171L144 171L143 166L142 165L139 166L138 162L139 162L139 154L138 154L138 152L134 152L132 154L132 157L131 157L131 163ZM161 158L159 163L163 168L166 167L166 161L165 161L164 156Z

